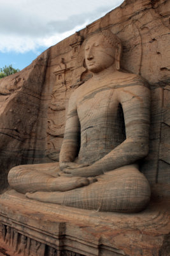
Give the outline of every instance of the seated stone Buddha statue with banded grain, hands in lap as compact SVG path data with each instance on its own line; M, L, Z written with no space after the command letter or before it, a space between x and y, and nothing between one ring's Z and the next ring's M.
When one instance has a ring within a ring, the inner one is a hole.
M120 71L122 44L111 31L90 36L93 76L72 93L59 163L16 166L11 188L27 198L81 209L139 212L150 200L138 161L148 154L150 90Z

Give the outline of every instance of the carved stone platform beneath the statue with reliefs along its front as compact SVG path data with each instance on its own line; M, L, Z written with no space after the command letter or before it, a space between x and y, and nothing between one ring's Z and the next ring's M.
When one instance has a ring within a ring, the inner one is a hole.
M45 204L6 191L0 197L0 248L16 256L167 256L168 198L157 197L138 214L118 214Z

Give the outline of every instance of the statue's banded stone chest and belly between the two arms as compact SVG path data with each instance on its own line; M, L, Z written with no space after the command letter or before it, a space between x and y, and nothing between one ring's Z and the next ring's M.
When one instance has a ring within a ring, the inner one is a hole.
M87 84L88 85L88 84ZM92 164L125 140L124 114L117 84L95 84L78 97L81 126L79 163Z

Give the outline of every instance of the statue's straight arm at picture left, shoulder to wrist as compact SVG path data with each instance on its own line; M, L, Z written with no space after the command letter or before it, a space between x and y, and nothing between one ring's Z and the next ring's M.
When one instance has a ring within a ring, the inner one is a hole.
M74 161L78 154L79 144L80 122L76 109L76 93L73 93L69 99L64 140L62 141L60 150L59 163L61 170L63 170L68 163Z

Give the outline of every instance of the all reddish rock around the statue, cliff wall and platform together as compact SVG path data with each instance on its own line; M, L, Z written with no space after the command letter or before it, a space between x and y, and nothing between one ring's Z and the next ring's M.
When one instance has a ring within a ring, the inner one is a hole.
M84 56L90 35L104 29L118 35L123 43L122 70L144 77L151 90L150 149L139 166L152 187L146 210L88 211L6 191L0 198L0 248L8 255L169 255L167 10L169 1L124 1L0 81L1 189L8 186L11 167L59 160L68 99L92 77Z

